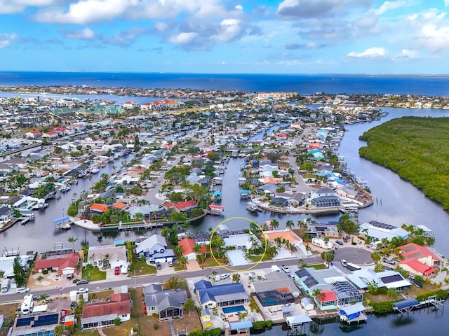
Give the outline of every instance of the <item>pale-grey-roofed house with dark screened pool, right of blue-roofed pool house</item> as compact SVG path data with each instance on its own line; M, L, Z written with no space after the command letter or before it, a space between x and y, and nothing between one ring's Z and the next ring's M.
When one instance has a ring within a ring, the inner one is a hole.
M250 288L264 307L294 303L300 296L300 290L284 272L269 272L264 280L253 281Z

